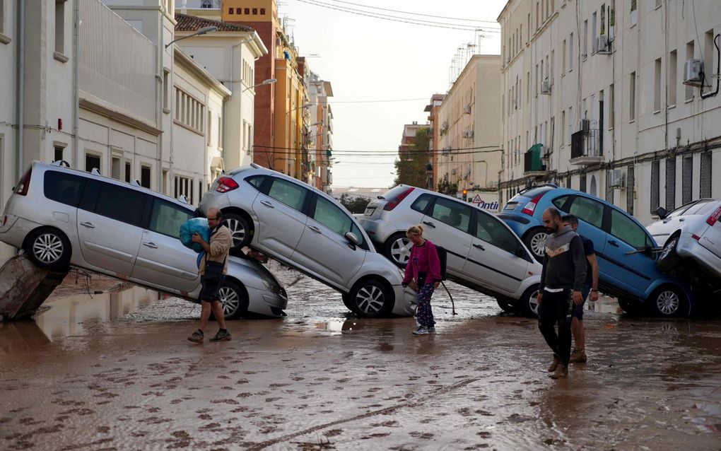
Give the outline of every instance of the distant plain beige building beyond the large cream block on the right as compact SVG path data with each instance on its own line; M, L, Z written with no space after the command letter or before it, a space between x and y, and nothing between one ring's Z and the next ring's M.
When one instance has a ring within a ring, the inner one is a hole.
M500 56L474 55L438 108L438 183L484 205L497 201L503 167L500 87Z

